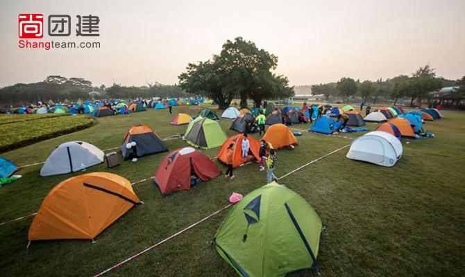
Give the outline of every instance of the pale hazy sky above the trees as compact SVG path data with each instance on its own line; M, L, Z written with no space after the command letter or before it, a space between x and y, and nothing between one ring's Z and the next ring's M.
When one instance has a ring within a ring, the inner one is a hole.
M29 42L100 42L101 48L19 48L18 16L44 15ZM242 36L278 56L291 85L410 75L465 75L464 0L21 1L0 3L0 87L78 77L94 86L175 84L189 62ZM71 35L50 37L49 15L70 15ZM76 15L99 16L99 37L77 37Z

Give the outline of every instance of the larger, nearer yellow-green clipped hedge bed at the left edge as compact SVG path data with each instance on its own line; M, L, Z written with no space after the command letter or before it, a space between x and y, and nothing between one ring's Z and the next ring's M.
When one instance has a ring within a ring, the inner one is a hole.
M85 129L94 122L89 116L45 116L0 124L0 152Z

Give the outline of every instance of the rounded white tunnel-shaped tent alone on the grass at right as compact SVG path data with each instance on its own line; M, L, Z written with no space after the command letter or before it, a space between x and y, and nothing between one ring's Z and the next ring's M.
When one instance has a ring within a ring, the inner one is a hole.
M402 157L402 143L387 132L369 132L350 144L346 157L391 167Z

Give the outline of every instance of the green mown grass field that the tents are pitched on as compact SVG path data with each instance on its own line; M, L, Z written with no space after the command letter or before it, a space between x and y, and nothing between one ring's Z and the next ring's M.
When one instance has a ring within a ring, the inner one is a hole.
M196 116L201 107L174 107L174 113ZM446 118L428 122L434 139L403 139L403 157L393 168L346 158L348 148L312 163L280 180L307 199L326 224L318 254L323 276L464 276L465 261L465 114L444 111ZM221 116L221 112L219 112ZM56 146L82 140L100 149L120 146L129 127L145 124L161 138L185 132L169 124L174 116L149 110L98 118L98 125L2 154L18 166L45 161ZM228 136L232 120L221 119ZM310 124L294 125L310 129ZM368 123L370 130L377 125ZM357 137L365 134L350 133ZM252 135L259 139L258 134ZM275 175L281 177L305 163L348 145L351 140L304 132L295 150L279 150ZM407 144L407 142L409 142ZM182 139L164 142L170 151L187 146ZM219 148L202 150L215 157ZM167 153L105 164L105 171L134 182L155 175ZM219 164L226 171L226 166ZM40 177L41 166L22 168L21 179L0 188L0 222L35 213L51 188L67 175ZM235 170L234 180L218 177L161 198L153 181L134 186L145 203L96 237L87 240L33 242L26 250L32 217L0 226L2 276L94 276L228 205L231 193L246 195L266 184L266 173L253 163ZM229 209L164 242L104 276L236 276L210 245ZM288 276L317 276L296 271Z

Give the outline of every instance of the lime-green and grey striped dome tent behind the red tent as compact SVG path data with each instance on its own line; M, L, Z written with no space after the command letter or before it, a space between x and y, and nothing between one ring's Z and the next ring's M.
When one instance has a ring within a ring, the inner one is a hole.
M196 148L216 148L221 146L228 139L221 125L215 120L198 116L192 120L183 136L190 145Z

